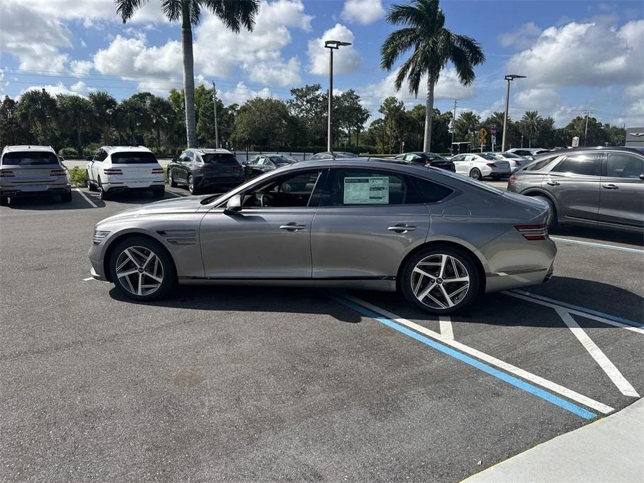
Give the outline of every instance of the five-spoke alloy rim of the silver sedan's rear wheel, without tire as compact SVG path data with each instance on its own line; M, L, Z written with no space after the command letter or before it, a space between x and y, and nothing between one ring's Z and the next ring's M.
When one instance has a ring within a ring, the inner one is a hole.
M456 306L469 292L470 277L464 264L437 253L423 258L411 274L411 291L425 306L441 310Z

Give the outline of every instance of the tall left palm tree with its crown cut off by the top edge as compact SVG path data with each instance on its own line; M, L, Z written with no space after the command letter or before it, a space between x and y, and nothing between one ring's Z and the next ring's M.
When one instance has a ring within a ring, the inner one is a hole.
M114 0L116 13L123 23L148 0ZM192 26L199 23L201 10L207 8L217 15L224 25L237 33L242 26L253 30L259 9L257 0L161 0L161 9L171 22L181 21L183 47L183 90L185 93L186 134L188 148L197 147L194 110L194 58L192 56Z

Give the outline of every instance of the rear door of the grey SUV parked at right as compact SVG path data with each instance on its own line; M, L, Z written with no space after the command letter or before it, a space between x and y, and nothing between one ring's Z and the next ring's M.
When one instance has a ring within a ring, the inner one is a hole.
M542 189L555 199L560 218L597 221L602 157L597 151L569 155L544 173Z

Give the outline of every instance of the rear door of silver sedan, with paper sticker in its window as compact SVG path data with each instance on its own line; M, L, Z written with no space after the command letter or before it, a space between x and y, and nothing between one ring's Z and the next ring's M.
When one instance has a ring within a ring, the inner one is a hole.
M414 190L404 173L331 169L311 230L313 278L395 277L430 228Z

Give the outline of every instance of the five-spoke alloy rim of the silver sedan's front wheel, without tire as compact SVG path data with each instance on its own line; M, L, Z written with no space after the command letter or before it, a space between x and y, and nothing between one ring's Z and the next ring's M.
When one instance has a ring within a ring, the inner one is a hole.
M127 292L150 295L163 283L164 268L159 256L144 246L129 246L116 259L116 276Z

